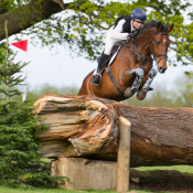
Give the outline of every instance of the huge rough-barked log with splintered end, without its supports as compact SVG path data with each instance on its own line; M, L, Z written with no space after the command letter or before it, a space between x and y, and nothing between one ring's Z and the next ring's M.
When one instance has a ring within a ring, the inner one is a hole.
M193 108L136 107L93 96L45 95L34 106L45 158L117 160L118 117L131 122L130 167L193 164Z

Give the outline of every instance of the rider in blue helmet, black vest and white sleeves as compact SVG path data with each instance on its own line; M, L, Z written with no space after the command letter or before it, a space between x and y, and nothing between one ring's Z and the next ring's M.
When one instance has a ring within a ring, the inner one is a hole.
M124 15L117 19L115 24L107 31L105 51L98 61L97 71L90 81L93 84L99 86L101 73L107 65L107 61L109 60L111 47L119 41L130 39L136 30L142 26L146 20L147 14L140 8L135 9L130 17Z

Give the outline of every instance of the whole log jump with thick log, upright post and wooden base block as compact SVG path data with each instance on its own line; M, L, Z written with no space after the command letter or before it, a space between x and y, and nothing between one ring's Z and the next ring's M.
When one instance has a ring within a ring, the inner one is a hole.
M45 118L40 124L49 126L36 132L43 157L57 158L52 174L72 180L65 189L127 192L129 179L147 189L146 183L159 171L147 174L131 169L129 178L129 154L131 167L193 164L192 108L144 108L90 96L56 95L43 96L34 105L36 116ZM164 172L159 179L168 184L168 176L176 174L186 176L184 186L192 190L190 174Z

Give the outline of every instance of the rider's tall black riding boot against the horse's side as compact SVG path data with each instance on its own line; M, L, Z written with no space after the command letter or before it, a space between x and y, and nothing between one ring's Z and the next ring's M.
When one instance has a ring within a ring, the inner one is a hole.
M98 61L97 72L96 72L96 74L93 76L93 78L90 81L93 84L95 84L97 86L100 85L101 73L105 69L108 60L109 60L109 55L103 53L100 58L99 58L99 61Z

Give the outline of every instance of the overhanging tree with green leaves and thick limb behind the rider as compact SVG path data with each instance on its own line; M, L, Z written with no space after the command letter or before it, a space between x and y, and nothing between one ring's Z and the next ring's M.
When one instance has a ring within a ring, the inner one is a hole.
M137 0L121 3L103 0L0 0L0 23L9 20L9 35L31 34L34 44L63 44L77 55L95 60L101 52L105 31L122 14L140 7L148 20L174 23L170 51L172 65L193 62L193 6L190 0ZM189 21L189 22L187 22ZM36 39L37 37L37 39ZM0 40L4 39L0 25ZM81 52L79 52L81 50Z

